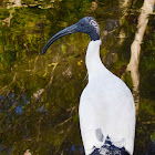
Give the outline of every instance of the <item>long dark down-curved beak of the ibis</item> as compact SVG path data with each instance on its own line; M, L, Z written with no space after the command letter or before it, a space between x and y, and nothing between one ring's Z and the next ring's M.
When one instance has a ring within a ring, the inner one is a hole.
M61 30L60 32L58 32L55 35L53 35L49 41L48 43L45 44L45 46L43 48L42 50L42 54L44 54L46 52L46 50L49 49L49 46L54 42L56 41L58 39L64 37L64 35L68 35L68 34L71 34L71 33L75 33L78 32L78 24L73 24L71 27L68 27L63 30Z

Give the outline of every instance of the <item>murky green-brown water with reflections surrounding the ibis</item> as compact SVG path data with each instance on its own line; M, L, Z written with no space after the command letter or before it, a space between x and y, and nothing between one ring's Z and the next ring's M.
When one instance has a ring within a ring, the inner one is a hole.
M102 29L101 58L122 78L142 3L134 3L118 25L123 13L117 0L0 1L0 154L22 155L27 149L32 155L83 154L78 107L87 83L90 38L68 35L45 55L41 50L58 31L92 16ZM154 25L152 16L142 44L135 155L155 154ZM125 38L120 38L121 31ZM124 81L132 90L130 74Z

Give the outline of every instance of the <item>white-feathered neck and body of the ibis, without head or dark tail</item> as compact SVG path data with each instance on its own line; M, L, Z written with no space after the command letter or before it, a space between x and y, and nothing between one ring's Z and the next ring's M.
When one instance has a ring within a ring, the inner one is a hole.
M103 146L106 136L133 154L135 107L126 84L111 73L100 59L101 41L91 41L86 51L89 83L80 100L80 125L85 153Z

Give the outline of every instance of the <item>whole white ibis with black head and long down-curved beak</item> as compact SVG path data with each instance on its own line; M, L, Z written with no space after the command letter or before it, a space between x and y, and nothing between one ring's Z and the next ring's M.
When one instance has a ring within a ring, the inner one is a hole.
M135 138L135 103L127 85L102 63L101 29L93 17L84 17L53 35L42 50L72 33L86 33L90 43L85 64L87 84L79 105L80 130L85 155L133 155ZM82 42L81 42L82 43Z

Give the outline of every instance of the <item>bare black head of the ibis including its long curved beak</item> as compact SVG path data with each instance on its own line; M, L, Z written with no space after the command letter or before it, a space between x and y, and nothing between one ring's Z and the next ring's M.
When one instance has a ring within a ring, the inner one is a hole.
M100 40L100 25L97 24L97 22L95 21L94 18L92 17L85 17L83 19L81 19L78 23L68 27L63 30L61 30L60 32L58 32L55 35L53 35L49 42L46 43L46 45L44 46L44 49L42 50L42 54L44 54L48 50L48 48L58 39L71 34L71 33L76 33L76 32L83 32L90 35L91 40L95 41L95 40Z

